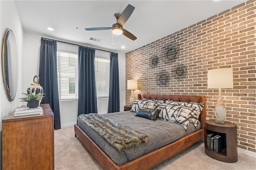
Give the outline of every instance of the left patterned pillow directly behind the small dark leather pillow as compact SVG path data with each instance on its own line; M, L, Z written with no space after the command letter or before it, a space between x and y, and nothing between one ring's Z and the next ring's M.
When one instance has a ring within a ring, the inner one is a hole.
M136 99L130 111L137 113L142 107L145 107L148 109L156 109L158 105L159 104L157 101Z

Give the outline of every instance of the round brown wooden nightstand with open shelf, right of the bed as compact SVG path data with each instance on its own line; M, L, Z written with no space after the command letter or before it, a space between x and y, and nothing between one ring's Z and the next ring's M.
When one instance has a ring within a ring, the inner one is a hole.
M214 150L216 139L213 139L213 143L208 140L207 135L214 134L219 135L220 140L217 141L222 147L219 150ZM221 142L221 143L220 143ZM213 144L213 148L210 147ZM237 162L237 125L228 121L225 123L216 123L215 120L207 120L204 124L204 152L216 160L222 162Z

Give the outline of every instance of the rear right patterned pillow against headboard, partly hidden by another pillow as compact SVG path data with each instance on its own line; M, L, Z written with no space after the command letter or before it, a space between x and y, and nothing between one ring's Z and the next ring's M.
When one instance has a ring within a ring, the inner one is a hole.
M194 102L180 102L180 101L166 101L166 105L176 105L176 106L185 106L193 108L193 114L190 119L190 122L197 128L199 115L204 108L204 103L194 103Z

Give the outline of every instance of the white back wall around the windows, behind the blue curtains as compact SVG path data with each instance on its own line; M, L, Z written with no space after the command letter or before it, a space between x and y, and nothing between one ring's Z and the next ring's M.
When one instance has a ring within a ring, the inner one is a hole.
M34 75L38 75L39 71L39 55L40 55L40 40L41 36L30 33L24 33L24 51L23 51L23 67L22 90L33 82ZM63 41L63 40L62 40ZM78 53L78 47L65 43L58 43L58 49ZM97 54L96 54L97 55ZM102 55L102 54L101 54ZM34 63L31 66L31 63ZM125 53L118 53L119 64L119 83L120 83L120 111L124 111L125 105ZM39 77L40 79L40 77ZM40 83L40 80L39 80ZM73 126L77 121L77 100L60 101L60 122L61 127ZM108 112L108 98L97 100L98 113L103 114Z

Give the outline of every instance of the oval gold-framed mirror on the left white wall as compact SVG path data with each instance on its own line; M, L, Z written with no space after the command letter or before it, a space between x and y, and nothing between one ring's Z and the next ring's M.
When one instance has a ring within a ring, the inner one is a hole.
M18 52L14 34L10 29L4 33L2 73L6 97L9 101L13 101L18 87Z

